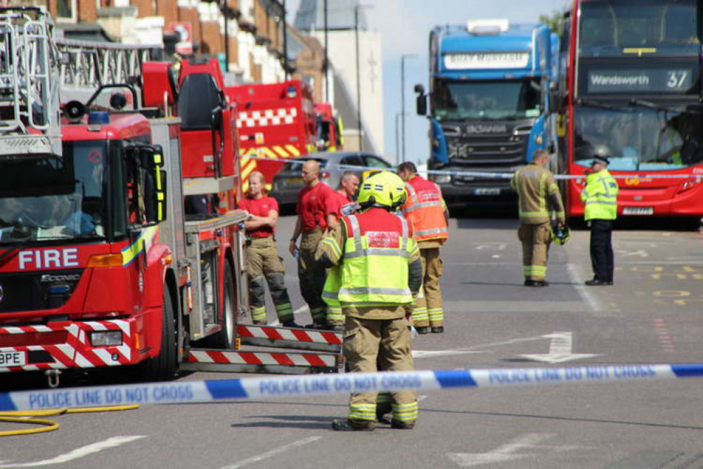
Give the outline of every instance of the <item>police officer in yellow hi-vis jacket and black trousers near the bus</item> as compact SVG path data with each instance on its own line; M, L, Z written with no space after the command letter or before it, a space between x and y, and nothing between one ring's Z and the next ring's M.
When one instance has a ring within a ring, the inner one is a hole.
M610 149L604 145L590 148L593 163L586 170L586 187L581 200L586 205L584 219L591 227L591 264L593 278L588 286L613 284L613 221L617 218L617 181L608 172Z

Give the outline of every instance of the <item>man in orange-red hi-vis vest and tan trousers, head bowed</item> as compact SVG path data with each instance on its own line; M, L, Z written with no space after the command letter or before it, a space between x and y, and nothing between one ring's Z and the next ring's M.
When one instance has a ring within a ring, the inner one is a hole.
M415 302L413 324L418 334L444 332L444 305L439 279L442 262L439 248L449 239L449 211L437 184L419 176L412 162L398 166L398 175L405 181L406 203L401 213L413 224L415 240L423 259L423 287Z

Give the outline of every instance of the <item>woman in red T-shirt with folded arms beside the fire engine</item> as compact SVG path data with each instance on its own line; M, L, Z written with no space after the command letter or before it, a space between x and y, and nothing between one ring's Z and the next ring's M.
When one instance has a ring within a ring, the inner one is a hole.
M268 196L264 174L256 171L249 176L249 192L240 201L239 208L249 213L244 226L247 234L247 276L252 321L254 324L267 322L264 283L268 283L278 321L285 327L300 327L293 318L293 308L283 281L283 259L278 256L274 238L278 202Z

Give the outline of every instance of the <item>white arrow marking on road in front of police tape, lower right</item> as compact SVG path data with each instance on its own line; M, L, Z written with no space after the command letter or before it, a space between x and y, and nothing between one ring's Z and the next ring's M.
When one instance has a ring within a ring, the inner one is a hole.
M488 453L449 453L447 456L457 465L468 468L472 465L509 463L517 459L539 456L535 452L516 454L520 450L548 449L562 452L581 448L581 446L546 446L538 444L553 436L548 433L528 433Z

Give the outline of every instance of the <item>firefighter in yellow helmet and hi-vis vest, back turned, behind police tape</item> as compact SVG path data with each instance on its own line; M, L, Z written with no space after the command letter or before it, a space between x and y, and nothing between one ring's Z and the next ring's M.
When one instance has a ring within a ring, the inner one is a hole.
M420 289L422 264L411 224L392 213L404 200L398 176L373 174L361 184L359 214L342 217L316 252L324 268L340 266L343 349L352 373L413 370L406 306ZM377 394L352 394L347 418L333 420L332 428L373 430ZM392 392L391 411L392 428L413 428L418 418L415 391Z

